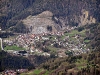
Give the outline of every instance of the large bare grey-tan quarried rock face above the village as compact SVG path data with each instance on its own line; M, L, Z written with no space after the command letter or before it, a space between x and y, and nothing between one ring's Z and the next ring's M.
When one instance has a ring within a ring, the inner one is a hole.
M47 26L52 26L52 30L56 32L55 25L57 25L52 20L53 13L50 11L44 11L36 16L28 16L26 19L22 20L31 33L39 34L48 32Z

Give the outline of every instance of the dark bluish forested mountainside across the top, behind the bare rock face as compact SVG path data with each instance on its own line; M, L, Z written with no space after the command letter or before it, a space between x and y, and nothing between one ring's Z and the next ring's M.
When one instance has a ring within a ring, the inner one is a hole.
M29 15L50 11L58 18L57 24L77 26L100 21L99 0L1 0L0 27L16 32L21 20ZM81 20L84 22L81 22ZM23 24L22 24L23 25ZM13 30L13 26L15 30ZM23 28L21 28L24 32Z

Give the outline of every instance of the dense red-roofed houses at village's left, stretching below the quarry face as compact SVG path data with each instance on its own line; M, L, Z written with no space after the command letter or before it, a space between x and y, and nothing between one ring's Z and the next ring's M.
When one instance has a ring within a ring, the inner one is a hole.
M22 34L16 37L14 43L17 46L24 47L25 49L30 49L31 46L35 44L35 41L40 40L49 40L49 37L45 37L45 35L63 35L63 32L51 32L51 33L43 33L43 34Z

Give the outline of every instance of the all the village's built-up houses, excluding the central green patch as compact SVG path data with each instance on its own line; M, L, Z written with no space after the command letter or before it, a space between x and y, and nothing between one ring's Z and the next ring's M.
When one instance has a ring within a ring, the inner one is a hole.
M54 39L51 40L49 35L50 36L54 35L57 37L54 37ZM51 44L51 46L59 47L59 49L61 48L60 49L61 51L57 52L59 57L66 56L65 55L66 50L68 50L69 52L72 52L73 55L79 55L79 54L86 53L89 51L89 49L84 48L86 46L85 44L80 43L79 35L73 36L73 38L76 39L75 41L70 40L69 36L65 36L63 40L59 39L58 36L62 37L63 35L64 35L64 32L50 32L50 33L41 33L41 34L31 34L31 33L20 34L14 40L5 40L4 42L6 42L8 45L15 44L19 47L25 48L27 50L27 53L20 53L18 51L13 51L13 54L21 55L21 56L28 56L29 54L50 56L49 52L44 52L40 48L36 48L36 42L37 41L41 42L44 40L49 40L49 43ZM62 49L64 50L62 51Z

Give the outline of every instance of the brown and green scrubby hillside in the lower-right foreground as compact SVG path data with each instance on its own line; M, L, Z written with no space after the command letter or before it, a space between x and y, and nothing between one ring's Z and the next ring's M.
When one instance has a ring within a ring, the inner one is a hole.
M69 58L48 60L39 68L21 75L99 75L100 52L92 52Z

